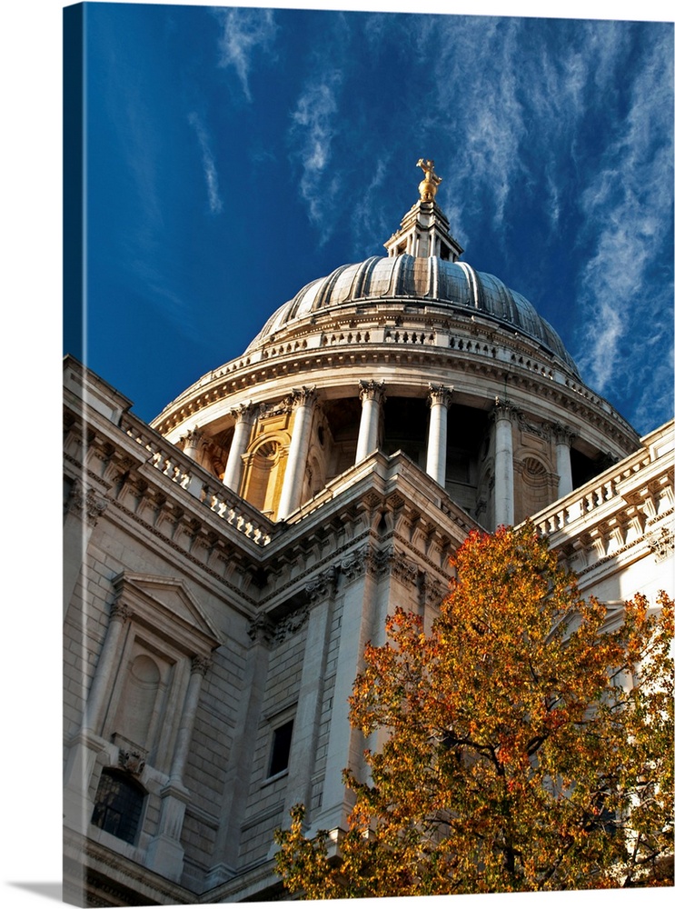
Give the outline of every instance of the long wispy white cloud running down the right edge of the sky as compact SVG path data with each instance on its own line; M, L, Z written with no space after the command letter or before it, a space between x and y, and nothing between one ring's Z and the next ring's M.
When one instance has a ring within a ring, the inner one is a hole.
M668 267L661 289L652 291L649 299L641 288L660 262L672 264L672 249L664 248L661 240L670 236L673 215L671 86L672 44L669 53L657 43L632 86L620 135L582 197L584 214L598 240L581 274L584 321L578 355L587 381L603 394L616 391L618 384L628 384L636 392L650 387L652 414L653 399L663 395L664 420L672 410L672 374L662 370L672 350ZM640 351L631 355L627 369L627 349L636 337ZM656 388L655 371L665 387ZM637 405L635 415L626 416L637 422L644 404Z

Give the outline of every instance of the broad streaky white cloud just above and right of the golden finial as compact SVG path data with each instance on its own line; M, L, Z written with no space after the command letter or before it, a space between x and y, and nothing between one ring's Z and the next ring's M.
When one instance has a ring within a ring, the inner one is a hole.
M420 52L432 40L439 49L426 107L430 125L448 136L444 191L456 220L482 222L488 204L491 230L511 248L513 203L529 200L553 234L580 165L579 136L611 91L626 28L463 16L419 22Z

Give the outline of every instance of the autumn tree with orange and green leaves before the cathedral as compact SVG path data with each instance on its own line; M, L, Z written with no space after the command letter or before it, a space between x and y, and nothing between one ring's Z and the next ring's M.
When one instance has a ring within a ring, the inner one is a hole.
M672 883L673 604L618 629L533 526L471 534L430 634L397 610L351 698L372 736L338 842L277 831L307 898ZM376 744L373 744L375 742ZM669 858L670 857L670 858Z

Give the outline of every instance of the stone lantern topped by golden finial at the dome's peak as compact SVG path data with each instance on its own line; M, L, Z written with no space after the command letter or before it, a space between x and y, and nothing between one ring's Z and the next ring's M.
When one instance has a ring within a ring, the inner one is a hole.
M420 158L424 179L419 185L420 198L403 215L401 228L384 244L388 255L413 255L416 258L438 258L456 262L464 250L450 233L450 224L436 202L442 177L434 171L433 161Z

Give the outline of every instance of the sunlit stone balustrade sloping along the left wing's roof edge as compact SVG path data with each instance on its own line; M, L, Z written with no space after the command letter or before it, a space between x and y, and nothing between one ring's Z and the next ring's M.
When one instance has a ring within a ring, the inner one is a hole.
M212 474L195 464L180 449L166 442L162 435L148 429L130 414L124 415L122 428L126 435L150 454L148 464L152 464L173 483L194 495L213 514L231 524L254 544L264 546L270 542L274 527L271 521L248 506L227 486L219 484Z

